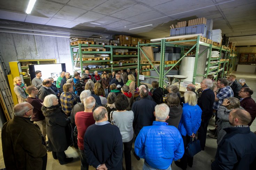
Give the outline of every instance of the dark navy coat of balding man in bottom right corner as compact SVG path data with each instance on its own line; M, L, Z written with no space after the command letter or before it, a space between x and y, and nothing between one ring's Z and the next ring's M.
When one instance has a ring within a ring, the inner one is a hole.
M224 130L227 134L217 148L211 169L249 170L256 157L256 135L250 131L250 127L230 127Z

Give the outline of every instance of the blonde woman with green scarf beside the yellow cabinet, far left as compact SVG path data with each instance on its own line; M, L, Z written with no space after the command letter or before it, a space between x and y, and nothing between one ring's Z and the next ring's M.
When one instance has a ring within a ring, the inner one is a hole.
M14 92L18 97L18 102L26 102L28 94L26 93L26 86L22 83L21 77L14 77L13 84Z

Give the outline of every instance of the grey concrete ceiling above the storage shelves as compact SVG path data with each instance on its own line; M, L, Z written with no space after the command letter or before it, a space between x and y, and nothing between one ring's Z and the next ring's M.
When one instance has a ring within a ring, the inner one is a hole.
M255 0L37 0L27 15L28 2L1 0L0 19L155 39L170 36L171 24L205 17L236 45L256 45Z

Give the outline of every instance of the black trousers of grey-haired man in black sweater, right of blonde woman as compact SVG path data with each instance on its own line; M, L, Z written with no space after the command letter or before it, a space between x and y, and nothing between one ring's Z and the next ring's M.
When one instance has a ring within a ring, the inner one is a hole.
M197 131L197 138L200 140L201 149L204 149L204 147L205 147L207 127L208 127L210 119L211 119L211 117L202 118L201 125Z

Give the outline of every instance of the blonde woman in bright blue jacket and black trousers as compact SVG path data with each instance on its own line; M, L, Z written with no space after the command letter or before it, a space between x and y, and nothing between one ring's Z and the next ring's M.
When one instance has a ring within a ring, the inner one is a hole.
M185 103L183 104L183 113L181 115L178 129L183 139L184 148L186 148L191 137L195 137L195 134L201 125L202 110L196 104L197 100L194 92L185 92L184 100ZM187 164L189 167L192 167L193 157L191 158L184 153L183 157L180 159L180 162L175 161L174 163L181 169L185 170L187 168Z

